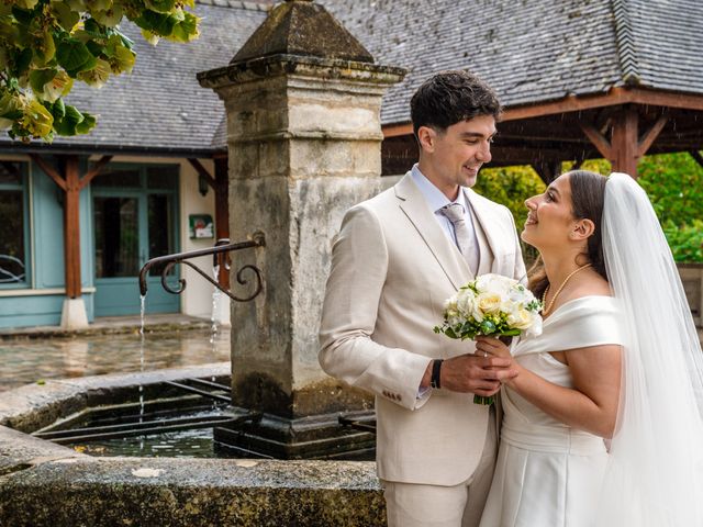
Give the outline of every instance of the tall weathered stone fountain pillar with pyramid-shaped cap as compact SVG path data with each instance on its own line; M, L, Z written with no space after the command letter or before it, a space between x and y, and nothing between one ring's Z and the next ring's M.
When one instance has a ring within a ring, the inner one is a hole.
M372 404L321 370L317 330L332 239L379 190L381 97L403 75L302 0L274 8L230 66L199 74L227 113L230 237L266 237L233 255L233 291L246 264L265 281L232 306L235 405L293 422Z

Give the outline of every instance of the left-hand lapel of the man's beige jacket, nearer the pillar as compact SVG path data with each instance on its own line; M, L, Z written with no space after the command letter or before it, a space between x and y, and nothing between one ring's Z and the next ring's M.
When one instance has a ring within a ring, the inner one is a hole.
M469 265L447 238L410 172L395 184L394 190L399 206L427 244L451 284L459 289L471 279Z

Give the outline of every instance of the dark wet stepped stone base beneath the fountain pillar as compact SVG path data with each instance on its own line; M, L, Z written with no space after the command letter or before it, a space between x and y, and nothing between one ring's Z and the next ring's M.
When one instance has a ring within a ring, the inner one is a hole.
M259 414L244 423L235 418L236 424L214 428L215 447L246 458L373 460L373 411L344 414L346 426L339 415L288 419Z

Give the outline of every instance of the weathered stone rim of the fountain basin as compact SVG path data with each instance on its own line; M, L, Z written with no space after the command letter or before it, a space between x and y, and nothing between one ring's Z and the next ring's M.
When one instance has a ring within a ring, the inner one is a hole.
M30 436L164 381L226 375L228 363L46 381L0 401L0 525L383 526L376 463L92 458Z

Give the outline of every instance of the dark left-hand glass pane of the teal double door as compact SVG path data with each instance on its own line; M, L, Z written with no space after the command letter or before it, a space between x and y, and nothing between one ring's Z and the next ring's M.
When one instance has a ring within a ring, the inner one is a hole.
M135 198L94 198L96 277L136 277L140 228Z

